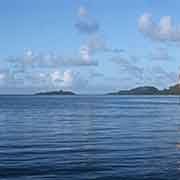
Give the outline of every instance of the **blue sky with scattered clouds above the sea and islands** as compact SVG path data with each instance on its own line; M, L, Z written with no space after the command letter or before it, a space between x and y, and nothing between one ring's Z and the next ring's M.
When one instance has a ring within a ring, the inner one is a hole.
M0 0L0 94L178 82L179 0Z

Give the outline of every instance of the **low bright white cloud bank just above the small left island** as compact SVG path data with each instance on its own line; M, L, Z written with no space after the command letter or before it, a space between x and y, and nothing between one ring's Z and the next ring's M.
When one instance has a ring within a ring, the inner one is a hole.
M24 73L0 73L0 87L31 89L71 89L85 87L87 80L78 72L66 70L30 71Z

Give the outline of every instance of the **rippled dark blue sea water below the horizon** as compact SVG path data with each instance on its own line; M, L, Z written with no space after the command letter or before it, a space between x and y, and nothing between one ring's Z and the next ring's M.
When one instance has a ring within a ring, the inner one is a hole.
M180 179L180 103L0 96L0 179Z

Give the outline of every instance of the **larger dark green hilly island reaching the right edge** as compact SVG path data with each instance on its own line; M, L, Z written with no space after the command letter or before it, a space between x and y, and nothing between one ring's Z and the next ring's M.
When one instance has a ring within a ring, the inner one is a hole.
M140 86L130 90L108 93L107 95L180 95L180 84L163 90L159 90L153 86Z

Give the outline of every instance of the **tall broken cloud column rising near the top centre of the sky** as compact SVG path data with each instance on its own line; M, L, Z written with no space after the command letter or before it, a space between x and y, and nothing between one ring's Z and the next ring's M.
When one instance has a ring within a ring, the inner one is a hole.
M99 34L99 24L90 16L85 6L79 7L78 22L75 25L80 32L87 35L86 42L83 43L79 51L85 65L98 64L97 60L93 60L95 54L123 52L122 49L111 48L107 45L105 38Z

